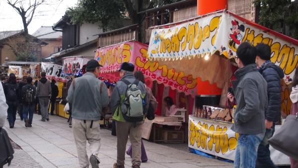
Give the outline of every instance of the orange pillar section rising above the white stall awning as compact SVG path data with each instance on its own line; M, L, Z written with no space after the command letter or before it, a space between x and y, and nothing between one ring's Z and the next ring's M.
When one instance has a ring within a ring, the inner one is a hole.
M198 16L227 9L227 0L198 0Z

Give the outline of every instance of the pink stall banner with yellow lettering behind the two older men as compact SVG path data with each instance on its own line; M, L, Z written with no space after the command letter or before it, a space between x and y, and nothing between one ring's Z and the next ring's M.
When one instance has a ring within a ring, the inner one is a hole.
M156 81L186 95L194 97L197 94L197 79L193 79L192 75L184 75L186 73L182 71L168 69L166 65L159 66L158 61L150 62L146 58L147 50L148 46L140 42L124 42L98 49L94 59L103 65L100 76L110 82L117 82L120 77L116 71L123 62L130 62L135 65L135 71L144 73L148 86L152 85L151 81Z

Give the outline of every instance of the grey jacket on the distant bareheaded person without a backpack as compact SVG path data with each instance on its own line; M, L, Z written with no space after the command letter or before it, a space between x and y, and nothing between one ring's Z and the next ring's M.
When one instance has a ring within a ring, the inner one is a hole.
M36 94L38 97L49 97L52 94L52 87L50 80L47 80L45 77L41 78L37 82Z

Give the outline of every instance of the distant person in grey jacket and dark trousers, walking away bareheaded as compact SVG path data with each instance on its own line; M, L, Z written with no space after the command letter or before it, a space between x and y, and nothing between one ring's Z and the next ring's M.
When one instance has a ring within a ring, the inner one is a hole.
M41 72L41 79L37 82L36 96L38 96L40 103L41 120L49 121L48 104L52 94L51 82L46 79L46 73Z

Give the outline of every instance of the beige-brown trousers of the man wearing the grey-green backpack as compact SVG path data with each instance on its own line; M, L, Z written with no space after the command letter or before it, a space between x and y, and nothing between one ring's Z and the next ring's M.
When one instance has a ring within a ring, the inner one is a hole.
M132 166L140 166L141 160L141 138L142 127L144 121L137 122L136 127L131 122L116 121L116 134L117 134L117 165L124 165L126 144L128 135L132 143Z

